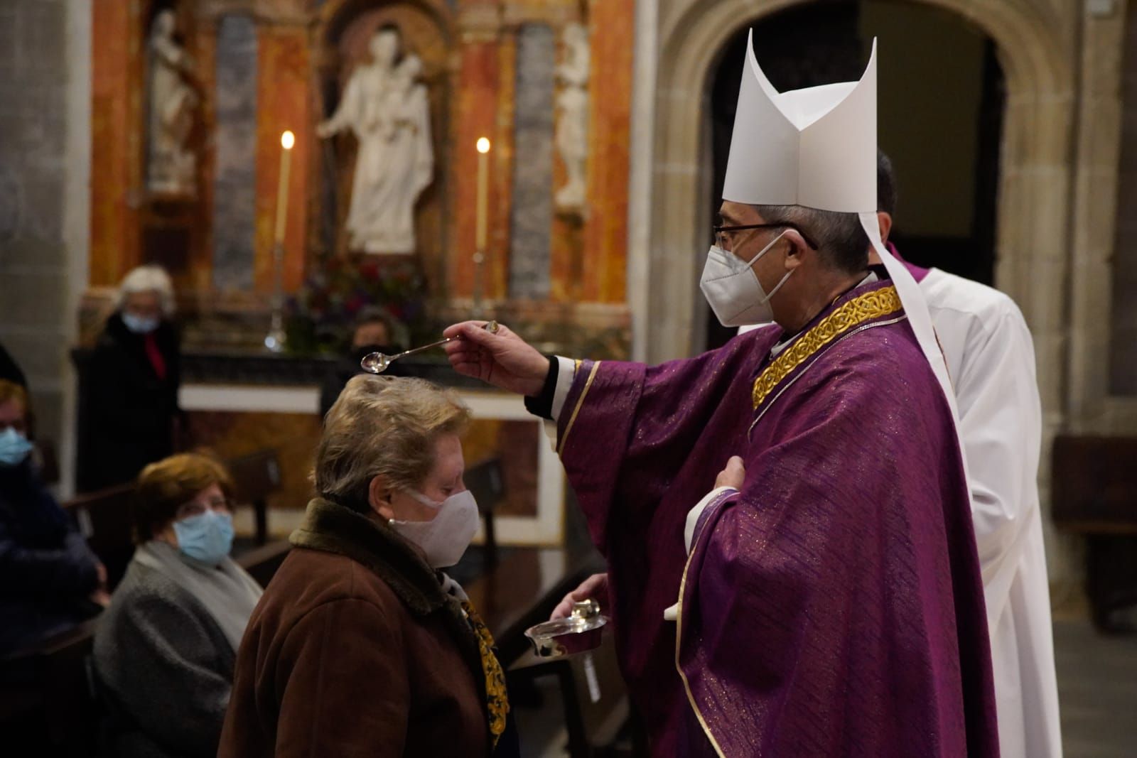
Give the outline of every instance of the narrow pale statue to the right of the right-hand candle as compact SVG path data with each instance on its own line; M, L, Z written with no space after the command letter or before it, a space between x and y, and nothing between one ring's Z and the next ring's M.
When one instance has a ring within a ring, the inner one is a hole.
M557 66L561 82L556 107L557 150L565 167L565 183L557 190L558 208L579 211L584 207L584 166L588 159L588 30L568 24L562 33L564 59Z

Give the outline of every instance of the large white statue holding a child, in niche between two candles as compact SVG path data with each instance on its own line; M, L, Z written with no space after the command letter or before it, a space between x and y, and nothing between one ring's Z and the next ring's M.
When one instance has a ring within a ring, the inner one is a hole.
M415 203L433 178L423 65L413 53L399 60L400 47L399 28L381 26L371 63L351 73L335 114L316 128L324 139L351 130L359 143L347 218L352 250L413 253Z

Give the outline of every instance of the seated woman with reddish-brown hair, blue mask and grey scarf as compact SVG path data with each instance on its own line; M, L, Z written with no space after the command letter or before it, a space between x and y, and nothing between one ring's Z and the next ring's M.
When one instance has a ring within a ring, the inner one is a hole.
M139 542L94 638L110 755L213 758L260 586L229 557L229 474L185 453L143 469Z

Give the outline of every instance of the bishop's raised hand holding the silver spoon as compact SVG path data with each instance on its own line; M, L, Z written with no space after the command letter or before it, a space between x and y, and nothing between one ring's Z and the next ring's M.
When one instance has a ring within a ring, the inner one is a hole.
M442 336L460 339L446 343L446 357L454 370L518 394L539 394L549 370L549 359L509 331L496 334L482 328L485 322L462 322L448 326Z

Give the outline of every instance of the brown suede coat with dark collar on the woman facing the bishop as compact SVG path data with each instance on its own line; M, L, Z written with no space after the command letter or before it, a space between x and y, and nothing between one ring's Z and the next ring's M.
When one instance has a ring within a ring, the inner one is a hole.
M219 758L487 756L460 606L393 531L313 500L238 652Z

